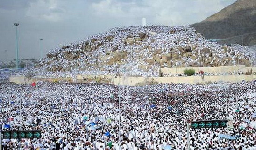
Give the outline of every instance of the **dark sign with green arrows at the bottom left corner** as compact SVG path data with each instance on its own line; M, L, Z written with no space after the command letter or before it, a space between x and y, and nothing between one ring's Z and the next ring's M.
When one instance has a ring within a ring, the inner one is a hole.
M21 139L21 138L41 138L41 131L31 130L31 131L2 131L3 139Z

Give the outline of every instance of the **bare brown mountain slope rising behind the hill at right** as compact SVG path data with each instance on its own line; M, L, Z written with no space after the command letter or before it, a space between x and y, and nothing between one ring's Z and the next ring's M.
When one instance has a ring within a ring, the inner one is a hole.
M206 39L222 44L256 44L256 0L237 0L200 23L191 25Z

